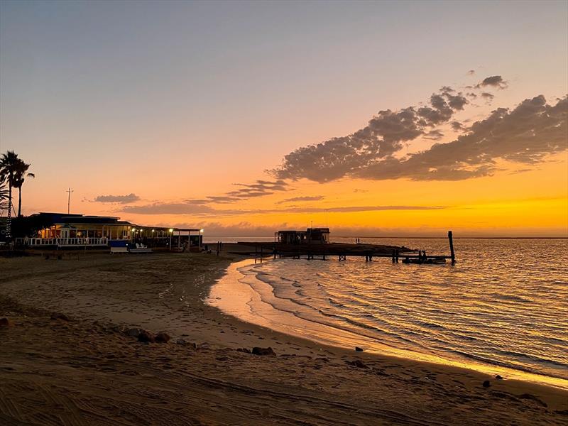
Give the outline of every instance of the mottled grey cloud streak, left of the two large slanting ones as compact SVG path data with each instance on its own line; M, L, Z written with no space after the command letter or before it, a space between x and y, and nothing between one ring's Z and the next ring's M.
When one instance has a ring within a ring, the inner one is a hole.
M343 178L403 148L403 143L423 136L452 118L468 103L461 92L442 87L428 105L397 111L379 111L363 129L316 145L298 148L285 155L280 168L268 173L279 179L307 178L328 182Z

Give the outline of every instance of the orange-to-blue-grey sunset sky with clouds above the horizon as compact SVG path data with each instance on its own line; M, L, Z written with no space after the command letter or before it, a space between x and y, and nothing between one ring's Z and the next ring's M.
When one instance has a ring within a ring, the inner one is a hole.
M0 3L23 212L568 236L568 3ZM319 145L318 145L319 144ZM327 217L327 219L326 219Z

